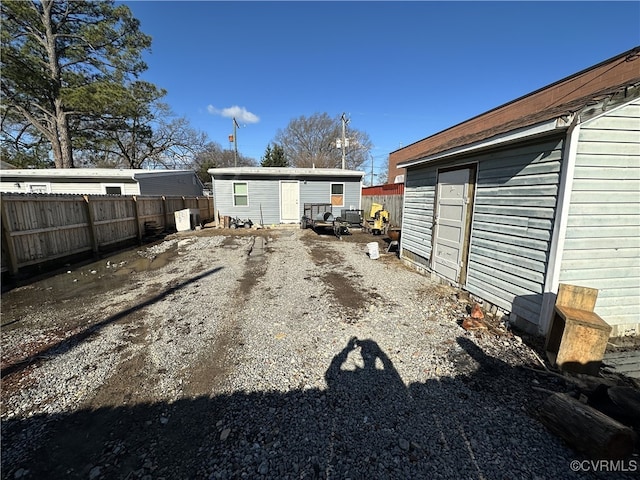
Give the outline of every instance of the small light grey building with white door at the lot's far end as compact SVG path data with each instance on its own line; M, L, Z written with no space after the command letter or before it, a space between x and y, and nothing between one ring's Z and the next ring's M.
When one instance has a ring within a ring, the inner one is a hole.
M237 167L209 169L213 197L222 216L253 223L300 223L305 203L360 209L364 172L334 168Z

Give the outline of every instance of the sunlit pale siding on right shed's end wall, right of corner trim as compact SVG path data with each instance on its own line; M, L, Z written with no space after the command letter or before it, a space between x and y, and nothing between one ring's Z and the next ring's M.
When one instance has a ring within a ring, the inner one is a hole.
M614 335L638 331L640 100L581 125L560 282L597 288Z

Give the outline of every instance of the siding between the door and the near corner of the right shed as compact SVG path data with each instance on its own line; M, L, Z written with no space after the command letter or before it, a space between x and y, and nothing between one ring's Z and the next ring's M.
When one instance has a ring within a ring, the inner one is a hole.
M476 157L467 289L539 323L557 203L559 138Z

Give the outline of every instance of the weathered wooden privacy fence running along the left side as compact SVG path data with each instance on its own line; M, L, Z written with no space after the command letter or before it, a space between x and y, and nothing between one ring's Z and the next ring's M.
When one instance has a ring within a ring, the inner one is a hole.
M2 271L141 242L146 225L175 230L174 213L184 209L214 218L210 197L2 194Z

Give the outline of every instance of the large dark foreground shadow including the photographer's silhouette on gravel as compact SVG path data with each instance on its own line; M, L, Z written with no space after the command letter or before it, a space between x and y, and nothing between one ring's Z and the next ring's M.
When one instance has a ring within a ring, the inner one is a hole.
M457 341L468 373L408 387L375 341L353 338L326 390L4 421L2 478L595 478L572 473L576 455L522 411L532 372ZM11 447L29 439L28 456Z

